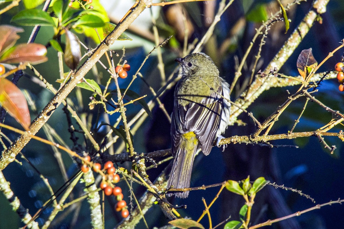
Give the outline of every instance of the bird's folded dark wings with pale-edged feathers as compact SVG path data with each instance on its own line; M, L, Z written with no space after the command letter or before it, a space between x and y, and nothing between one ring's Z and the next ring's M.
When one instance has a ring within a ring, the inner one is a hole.
M217 92L222 94L222 87ZM222 103L221 96L213 91L200 103L190 102L186 106L179 105L178 98L175 99L171 123L172 152L178 150L181 136L193 131L201 143L202 152L208 155L219 128Z

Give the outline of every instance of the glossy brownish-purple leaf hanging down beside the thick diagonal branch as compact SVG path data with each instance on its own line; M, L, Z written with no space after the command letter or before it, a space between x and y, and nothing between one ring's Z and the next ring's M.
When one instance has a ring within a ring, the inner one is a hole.
M66 30L66 46L64 50L64 61L66 65L75 70L81 60L81 48L78 37Z

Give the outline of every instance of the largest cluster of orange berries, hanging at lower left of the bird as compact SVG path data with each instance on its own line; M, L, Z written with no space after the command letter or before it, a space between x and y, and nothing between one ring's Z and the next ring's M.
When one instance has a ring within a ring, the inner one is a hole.
M84 158L86 161L90 161L90 157L86 156ZM81 170L86 173L89 171L89 167L86 163L84 163L81 166ZM99 170L101 170L101 164L99 163L93 163L93 170L95 172L98 172ZM99 187L104 191L104 194L107 196L111 196L114 195L116 196L117 199L117 204L116 204L116 211L121 211L121 215L123 218L127 218L129 216L129 210L127 209L127 202L125 200L123 200L123 193L122 193L122 189L119 186L115 186L114 188L112 188L113 183L118 183L120 180L119 175L116 172L116 169L114 167L114 163L112 163L111 161L107 161L104 164L104 171L106 171L107 173L107 180L103 180L100 182Z

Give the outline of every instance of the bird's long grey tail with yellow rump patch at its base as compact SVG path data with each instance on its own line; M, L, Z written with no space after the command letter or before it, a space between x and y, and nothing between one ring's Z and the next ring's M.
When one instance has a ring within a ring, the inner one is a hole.
M189 188L192 165L194 162L195 154L197 152L197 138L193 132L184 134L181 138L180 146L176 151L172 171L170 174L167 187L173 188ZM189 196L189 191L186 192L169 192L167 196L175 195L179 198L186 198Z

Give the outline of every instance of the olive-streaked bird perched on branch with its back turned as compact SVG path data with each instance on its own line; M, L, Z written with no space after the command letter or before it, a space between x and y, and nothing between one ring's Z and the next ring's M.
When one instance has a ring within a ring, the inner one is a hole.
M208 155L215 138L228 126L230 103L220 95L229 99L229 84L219 77L213 60L204 53L175 61L181 64L182 78L174 90L171 116L174 161L167 187L188 188L196 152L201 149ZM166 195L186 198L189 191Z

